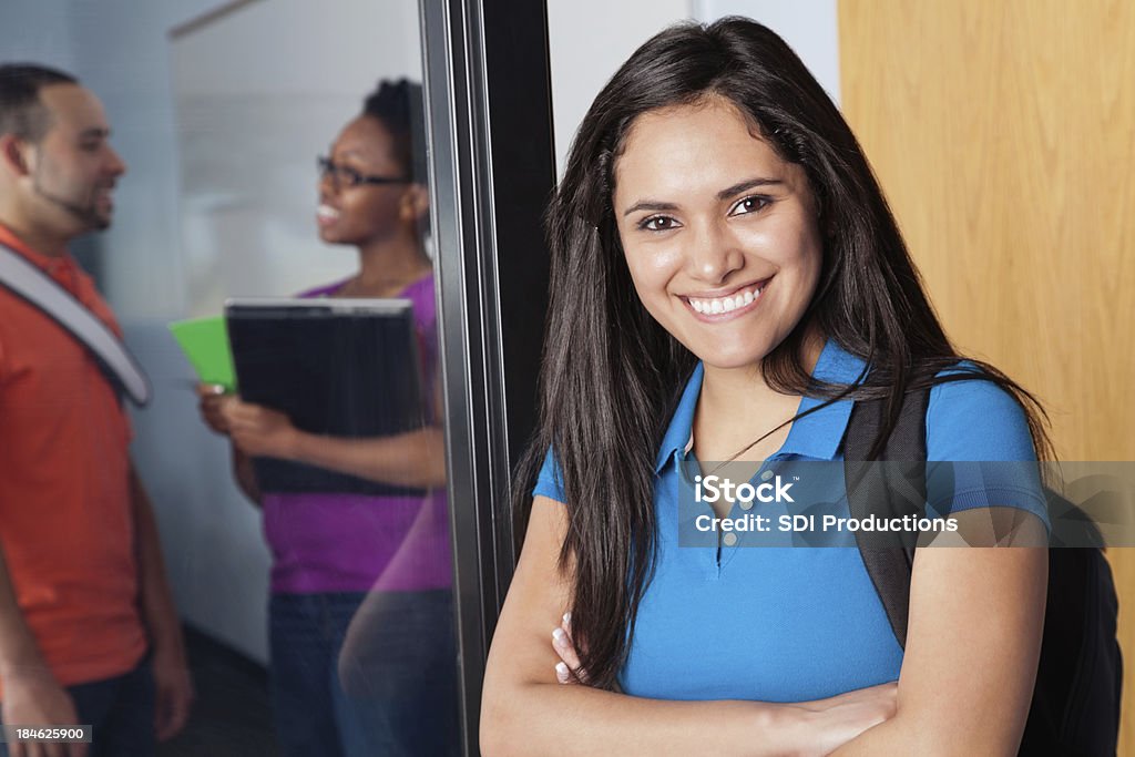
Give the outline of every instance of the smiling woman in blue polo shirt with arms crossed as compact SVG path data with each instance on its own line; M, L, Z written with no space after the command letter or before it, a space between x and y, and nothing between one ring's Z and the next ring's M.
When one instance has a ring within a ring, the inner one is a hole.
M751 461L767 481L841 461L858 401L884 405L876 449L922 390L930 461L1049 453L1032 397L947 339L796 54L747 19L662 32L596 98L547 218L541 422L519 474L537 485L516 487L482 751L1014 754L1044 550L919 549L903 647L855 549L679 546L683 465ZM1039 491L957 488L941 515L997 504L1043 529Z

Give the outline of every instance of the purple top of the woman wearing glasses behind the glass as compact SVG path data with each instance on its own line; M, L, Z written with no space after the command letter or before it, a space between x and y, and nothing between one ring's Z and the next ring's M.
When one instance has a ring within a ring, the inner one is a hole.
M301 297L325 297L345 281ZM437 380L434 277L398 294L413 303L428 417ZM356 494L266 494L264 537L272 550L272 591L414 591L452 583L445 489L424 497Z

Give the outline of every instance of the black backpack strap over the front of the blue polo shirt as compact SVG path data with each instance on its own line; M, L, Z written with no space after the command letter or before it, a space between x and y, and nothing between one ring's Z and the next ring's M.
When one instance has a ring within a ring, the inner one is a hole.
M909 392L877 461L896 464L884 470L871 465L872 446L883 426L885 401L857 402L851 409L843 437L843 472L851 516L871 514L884 518L922 515L926 504L926 407L930 388ZM907 464L901 464L907 463ZM910 607L910 573L914 547L896 535L858 530L859 555L875 591L883 603L894 638L903 648L907 641L907 615Z

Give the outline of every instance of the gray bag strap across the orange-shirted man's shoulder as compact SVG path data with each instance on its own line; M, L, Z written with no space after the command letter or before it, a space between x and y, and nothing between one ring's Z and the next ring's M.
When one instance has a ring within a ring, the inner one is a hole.
M150 402L150 379L123 340L51 277L2 244L0 285L39 308L86 347L116 390L140 407Z

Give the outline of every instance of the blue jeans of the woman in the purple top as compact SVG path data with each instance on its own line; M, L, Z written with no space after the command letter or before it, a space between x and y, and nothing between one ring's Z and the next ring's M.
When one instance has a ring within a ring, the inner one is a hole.
M375 595L339 654L367 594L277 594L269 602L270 688L283 754L459 754L456 653L448 590Z

